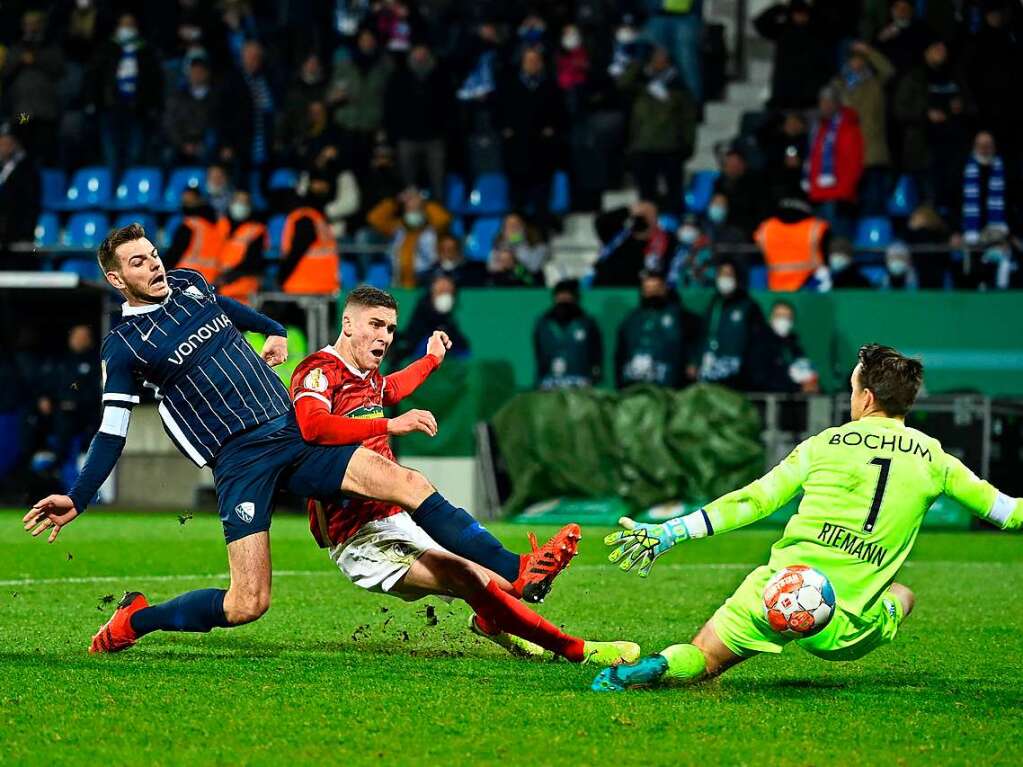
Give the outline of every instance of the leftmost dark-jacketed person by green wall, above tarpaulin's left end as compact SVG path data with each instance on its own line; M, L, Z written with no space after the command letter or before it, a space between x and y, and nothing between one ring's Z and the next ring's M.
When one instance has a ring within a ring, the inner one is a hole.
M559 282L553 300L533 328L536 388L595 386L603 376L604 341L596 322L579 306L579 282Z

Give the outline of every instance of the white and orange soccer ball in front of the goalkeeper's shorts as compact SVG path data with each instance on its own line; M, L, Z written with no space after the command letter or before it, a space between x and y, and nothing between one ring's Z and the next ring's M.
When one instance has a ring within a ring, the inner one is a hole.
M835 615L835 589L819 570L793 565L780 570L764 587L764 616L786 636L812 636Z

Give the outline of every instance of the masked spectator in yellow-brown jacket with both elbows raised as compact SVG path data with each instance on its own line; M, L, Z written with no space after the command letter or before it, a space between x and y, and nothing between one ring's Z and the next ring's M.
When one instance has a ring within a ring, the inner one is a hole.
M419 275L437 265L437 238L450 225L451 214L410 186L397 197L381 200L366 221L391 238L394 283L414 287Z

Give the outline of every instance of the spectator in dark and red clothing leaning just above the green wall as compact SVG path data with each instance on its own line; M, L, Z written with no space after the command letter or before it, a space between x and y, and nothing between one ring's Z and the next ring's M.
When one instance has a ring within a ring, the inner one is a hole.
M639 200L596 217L602 244L594 285L634 285L643 269L666 272L678 246L674 232L661 227L657 206Z

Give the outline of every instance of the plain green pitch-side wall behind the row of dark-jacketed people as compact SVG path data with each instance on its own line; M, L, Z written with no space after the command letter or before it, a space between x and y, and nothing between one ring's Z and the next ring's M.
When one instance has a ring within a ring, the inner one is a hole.
M419 290L395 290L401 320L407 320ZM840 290L832 294L756 292L768 311L784 298L796 307L796 329L820 371L826 392L840 391L852 369L856 349L879 342L920 355L927 391L972 391L990 396L1023 395L1023 295L918 290ZM686 291L683 304L702 314L706 290ZM637 290L594 288L583 292L583 307L604 333L605 381L611 388L615 333L637 302ZM469 337L475 359L510 364L515 385L536 381L532 333L536 318L550 306L550 292L532 288L462 290L455 317Z

